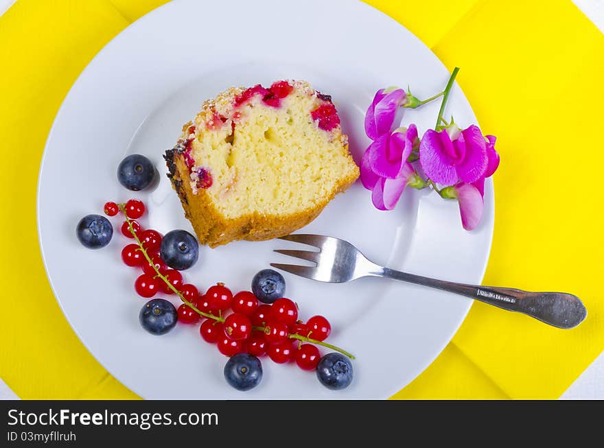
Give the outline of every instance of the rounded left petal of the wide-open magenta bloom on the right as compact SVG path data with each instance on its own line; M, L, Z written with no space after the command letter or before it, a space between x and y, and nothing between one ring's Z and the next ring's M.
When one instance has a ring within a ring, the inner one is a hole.
M449 136L446 131L443 133L429 129L421 137L419 143L419 163L423 172L430 179L441 185L455 185L459 180L454 165L451 165L451 158L448 156L449 149L445 149ZM444 144L443 144L444 142ZM451 141L448 145L452 146Z

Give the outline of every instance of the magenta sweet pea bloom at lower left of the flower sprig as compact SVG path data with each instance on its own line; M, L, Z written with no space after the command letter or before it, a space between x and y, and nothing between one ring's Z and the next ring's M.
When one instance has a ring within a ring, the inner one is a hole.
M373 205L380 210L392 210L408 182L415 179L415 169L407 159L417 147L417 128L401 128L383 134L365 151L361 160L361 182L371 190Z

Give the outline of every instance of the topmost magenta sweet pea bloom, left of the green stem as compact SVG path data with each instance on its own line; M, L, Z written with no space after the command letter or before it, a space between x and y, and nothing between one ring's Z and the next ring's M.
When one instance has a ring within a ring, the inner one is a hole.
M407 94L403 89L380 89L365 114L365 132L371 140L390 134L400 123L400 113Z

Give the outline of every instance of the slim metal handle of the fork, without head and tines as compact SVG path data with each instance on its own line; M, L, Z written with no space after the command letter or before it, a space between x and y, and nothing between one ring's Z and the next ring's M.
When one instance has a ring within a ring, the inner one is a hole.
M577 327L588 314L579 297L565 292L528 292L509 287L465 285L389 268L383 268L377 275L461 294L508 311L526 314L561 329Z

